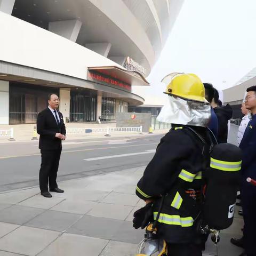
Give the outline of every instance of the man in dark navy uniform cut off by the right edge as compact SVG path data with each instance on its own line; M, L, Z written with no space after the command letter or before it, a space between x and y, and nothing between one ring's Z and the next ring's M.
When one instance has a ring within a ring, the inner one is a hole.
M241 199L244 216L243 245L241 255L256 255L256 187L248 183L248 177L256 179L256 86L249 87L245 107L251 110L252 120L248 123L239 148L243 151Z

